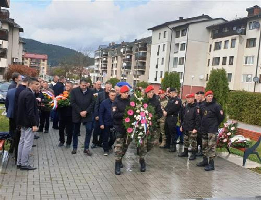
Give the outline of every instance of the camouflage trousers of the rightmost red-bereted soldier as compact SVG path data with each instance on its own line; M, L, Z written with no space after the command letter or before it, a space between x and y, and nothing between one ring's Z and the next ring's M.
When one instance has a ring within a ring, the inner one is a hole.
M218 133L202 134L202 153L209 158L216 157Z

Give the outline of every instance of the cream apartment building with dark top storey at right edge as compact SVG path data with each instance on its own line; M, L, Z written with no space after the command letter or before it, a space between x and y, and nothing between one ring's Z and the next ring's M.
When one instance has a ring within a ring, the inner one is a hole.
M207 27L205 81L212 69L225 68L230 90L261 92L261 8L255 5L246 11L247 17Z

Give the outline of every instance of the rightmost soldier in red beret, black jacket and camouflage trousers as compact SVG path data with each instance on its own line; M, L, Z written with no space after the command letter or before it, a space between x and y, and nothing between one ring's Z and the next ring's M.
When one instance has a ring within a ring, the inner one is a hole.
M206 171L211 171L215 169L214 158L216 157L215 150L217 146L218 128L224 120L225 114L221 105L213 98L212 91L206 92L205 98L206 101L203 102L204 106L201 107L202 120L200 126L203 161L198 163L197 166L205 166Z

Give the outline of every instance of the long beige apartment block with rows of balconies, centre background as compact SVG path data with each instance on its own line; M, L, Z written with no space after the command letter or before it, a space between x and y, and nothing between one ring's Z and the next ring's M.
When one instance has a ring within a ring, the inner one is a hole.
M100 80L118 78L131 85L148 81L151 55L151 37L100 45L95 51L95 68L100 71Z

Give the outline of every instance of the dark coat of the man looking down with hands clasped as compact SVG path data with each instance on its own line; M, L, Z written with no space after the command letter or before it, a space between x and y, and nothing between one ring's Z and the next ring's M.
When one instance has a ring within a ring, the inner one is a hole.
M87 88L87 91L83 93L80 87L74 88L71 91L71 106L72 106L72 121L73 123L86 123L92 121L93 111L93 91ZM86 117L82 117L80 113L87 111Z

